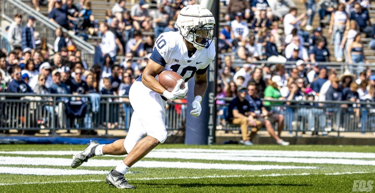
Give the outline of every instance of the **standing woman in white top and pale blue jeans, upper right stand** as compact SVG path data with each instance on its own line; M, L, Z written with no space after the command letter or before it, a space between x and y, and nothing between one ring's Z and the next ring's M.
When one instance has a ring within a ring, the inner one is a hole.
M341 62L343 57L343 49L341 48L341 40L344 36L345 28L349 28L349 17L345 12L345 4L340 3L335 12L331 14L331 22L328 33L331 36L331 44L334 44L336 61Z

